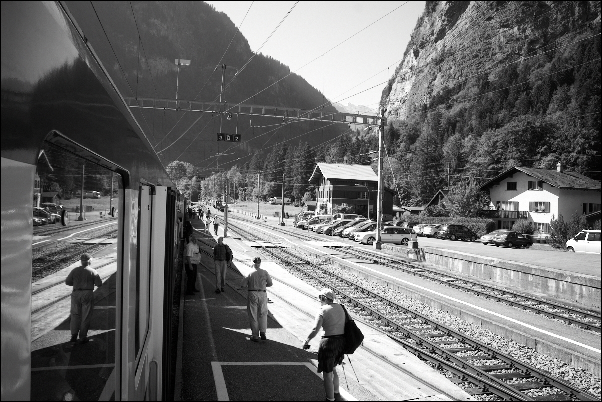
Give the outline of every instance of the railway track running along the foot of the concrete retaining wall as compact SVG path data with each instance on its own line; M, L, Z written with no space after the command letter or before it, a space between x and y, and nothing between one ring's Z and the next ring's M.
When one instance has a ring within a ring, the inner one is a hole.
M287 235L291 235L301 240L311 239L314 241L324 241L318 237L294 232L291 233L290 230L282 230L278 227L270 227L270 229L286 233ZM456 288L471 294L496 300L511 307L529 310L535 312L535 314L544 315L545 317L559 320L565 324L591 330L592 332L598 334L601 333L602 318L600 317L600 314L595 311L574 309L568 306L560 305L559 303L553 303L551 301L529 297L528 295L519 294L517 292L511 292L505 289L483 285L482 283L474 282L468 279L461 279L457 276L453 276L452 274L445 274L428 267L417 267L415 265L408 264L407 262L399 261L398 259L391 258L380 253L371 252L370 250L361 249L359 247L337 246L336 249L346 253L347 255L354 256L355 258L364 259L388 268L404 271L408 274L412 274L413 276L423 277L424 279L451 286L452 288Z

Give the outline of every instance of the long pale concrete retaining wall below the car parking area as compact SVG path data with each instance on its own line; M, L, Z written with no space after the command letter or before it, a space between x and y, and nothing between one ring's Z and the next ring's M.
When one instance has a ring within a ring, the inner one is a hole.
M412 250L402 247L383 244L382 249L404 258L423 256L423 261L435 267L600 308L599 277L431 247L421 249L423 253L418 254L419 258Z

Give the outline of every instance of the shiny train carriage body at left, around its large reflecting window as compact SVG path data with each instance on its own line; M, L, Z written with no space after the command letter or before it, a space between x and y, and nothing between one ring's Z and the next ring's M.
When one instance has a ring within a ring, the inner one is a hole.
M187 200L64 2L2 2L1 51L2 400L173 398ZM106 289L114 305L95 312L106 324L95 327L95 344L67 344L61 324L59 341L33 350L31 200L44 146L119 177L116 272Z

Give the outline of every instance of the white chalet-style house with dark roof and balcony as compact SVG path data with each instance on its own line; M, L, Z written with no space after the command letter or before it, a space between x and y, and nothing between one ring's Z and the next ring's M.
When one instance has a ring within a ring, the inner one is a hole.
M574 172L515 166L486 182L491 213L498 229L512 229L518 219L533 222L540 234L550 233L552 215L568 220L575 212L600 211L600 182Z

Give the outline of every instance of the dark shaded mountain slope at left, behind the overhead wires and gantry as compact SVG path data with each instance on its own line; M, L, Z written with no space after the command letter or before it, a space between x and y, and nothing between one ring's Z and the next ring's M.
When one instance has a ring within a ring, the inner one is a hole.
M178 58L191 60L190 66L180 70L179 99L219 100L221 61L228 66L225 82L230 85L225 100L229 104L246 100L246 104L312 109L324 102L320 91L296 74L270 87L289 75L290 68L262 54L256 55L233 79L253 52L243 34L236 34L234 22L204 2L94 2L93 5L96 12L90 2L67 2L123 96L175 99L178 69L174 61ZM271 29L266 29L266 37ZM267 87L270 88L262 91ZM335 111L335 108L326 105L324 110ZM183 111L144 111L144 114L133 111L152 144L159 144L158 151L172 144L200 117L198 113ZM208 172L211 173L217 164L216 158L210 157L217 152L234 153L220 158L220 167L232 167L225 162L238 158L242 163L248 162L249 155L276 141L299 137L291 141L294 146L299 140L319 144L346 129L343 125L321 129L321 123L297 123L276 130L273 125L282 123L282 119L256 118L252 121L244 117L238 122L238 134L243 134L243 144L233 147L232 143L218 143L216 134L220 132L220 126L222 132L234 134L236 119L221 120L203 117L181 140L163 152L161 159L166 165L179 159L197 167L210 167ZM252 128L267 125L272 126ZM303 135L314 129L317 131Z

